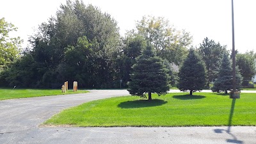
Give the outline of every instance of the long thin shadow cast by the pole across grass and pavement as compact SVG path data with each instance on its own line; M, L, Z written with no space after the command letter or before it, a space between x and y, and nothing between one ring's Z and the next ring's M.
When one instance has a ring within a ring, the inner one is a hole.
M241 144L241 143L243 143L243 141L237 140L236 136L231 133L232 118L233 118L233 114L234 114L235 104L236 104L236 99L232 99L230 115L229 115L229 118L228 118L228 129L227 130L225 130L225 129L214 129L214 132L216 132L216 133L227 132L227 134L229 134L233 138L233 139L227 139L226 141L228 143L240 143Z

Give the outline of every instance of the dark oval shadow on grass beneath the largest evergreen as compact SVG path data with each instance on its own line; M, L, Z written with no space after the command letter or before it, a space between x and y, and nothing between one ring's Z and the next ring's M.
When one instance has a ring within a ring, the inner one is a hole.
M147 107L161 106L166 103L167 101L160 100L160 99L132 100L127 102L121 102L120 104L118 104L118 107L123 109L147 108Z

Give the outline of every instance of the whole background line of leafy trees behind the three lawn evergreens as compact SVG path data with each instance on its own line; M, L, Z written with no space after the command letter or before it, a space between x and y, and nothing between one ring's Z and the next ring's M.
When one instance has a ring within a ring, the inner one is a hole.
M136 28L122 37L111 15L82 1L61 4L56 15L30 36L31 49L20 52L19 38L6 39L16 28L4 19L0 29L0 86L4 87L60 88L63 81L78 81L81 88L119 88L122 80L122 87L127 88L132 65L147 47L163 59L168 83L176 86L180 76L171 64L184 65L193 40L164 17L153 16L138 20ZM223 54L229 51L205 38L195 52L204 61L205 87L209 88L218 77ZM254 52L236 56L241 75L251 79Z

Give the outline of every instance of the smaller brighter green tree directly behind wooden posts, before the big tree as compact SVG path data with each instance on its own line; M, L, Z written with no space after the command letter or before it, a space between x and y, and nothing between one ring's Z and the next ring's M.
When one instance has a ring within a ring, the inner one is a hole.
M65 60L61 65L62 70L60 70L67 81L79 81L80 87L85 87L86 84L88 86L88 83L92 83L93 77L90 74L90 69L93 65L92 61L90 61L93 58L92 54L92 44L88 42L86 36L78 38L75 47L67 47Z

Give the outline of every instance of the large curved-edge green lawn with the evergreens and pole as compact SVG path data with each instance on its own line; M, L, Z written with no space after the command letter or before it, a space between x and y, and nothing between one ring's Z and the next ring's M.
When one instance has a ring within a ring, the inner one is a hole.
M44 125L74 127L174 127L256 125L256 93L232 100L217 93L168 93L148 101L140 97L95 100L65 109ZM231 110L234 113L230 113ZM232 114L232 115L231 115Z

